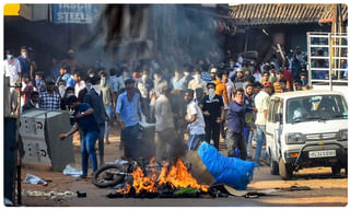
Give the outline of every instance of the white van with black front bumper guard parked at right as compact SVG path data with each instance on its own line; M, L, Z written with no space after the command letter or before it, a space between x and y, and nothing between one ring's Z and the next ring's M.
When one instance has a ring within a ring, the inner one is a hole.
M271 174L290 179L303 167L348 172L348 106L332 91L298 91L271 96L266 125Z

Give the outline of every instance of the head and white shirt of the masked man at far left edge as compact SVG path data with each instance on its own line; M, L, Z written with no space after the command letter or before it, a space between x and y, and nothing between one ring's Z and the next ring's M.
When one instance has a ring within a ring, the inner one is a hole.
M7 59L4 60L3 65L4 75L10 77L10 85L13 86L19 83L21 78L21 63L10 50L7 50Z

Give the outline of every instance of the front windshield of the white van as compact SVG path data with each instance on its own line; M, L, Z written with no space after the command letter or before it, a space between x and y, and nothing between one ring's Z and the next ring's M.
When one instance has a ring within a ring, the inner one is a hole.
M347 118L348 106L341 95L313 95L287 101L287 124Z

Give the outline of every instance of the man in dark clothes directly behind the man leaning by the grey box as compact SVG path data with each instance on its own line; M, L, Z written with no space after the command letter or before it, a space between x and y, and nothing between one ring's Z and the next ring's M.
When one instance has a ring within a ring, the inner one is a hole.
M106 114L103 103L103 93L100 86L100 78L94 77L91 79L91 89L84 97L84 103L89 104L94 109L94 117L100 128L98 136L98 155L100 165L104 164L104 136L105 136L105 121L108 121L108 115Z

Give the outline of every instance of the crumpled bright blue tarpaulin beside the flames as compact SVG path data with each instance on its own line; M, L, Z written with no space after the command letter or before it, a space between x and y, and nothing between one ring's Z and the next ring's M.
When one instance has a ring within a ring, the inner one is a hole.
M199 145L197 153L215 178L215 184L226 184L243 190L253 179L253 171L257 166L255 162L226 158L207 142Z

